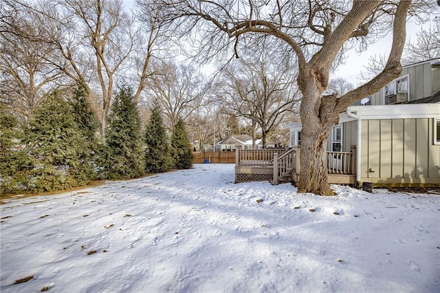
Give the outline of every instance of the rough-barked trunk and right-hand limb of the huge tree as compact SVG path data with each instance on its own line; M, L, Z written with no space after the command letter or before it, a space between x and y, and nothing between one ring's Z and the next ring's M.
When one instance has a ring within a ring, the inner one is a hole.
M393 46L386 67L369 83L350 91L341 98L337 98L336 94L321 97L322 92L327 88L329 65L331 64L329 59L322 61L329 56L328 53L322 53L326 52L326 46L323 47L321 54L315 55L318 57L316 60L312 58L307 65L299 68L298 86L303 92L304 98L300 107L303 130L301 131L301 169L298 192L317 195L335 194L329 186L327 171L327 140L331 129L335 124L338 124L339 113L351 103L375 93L386 83L399 76L401 72L399 61L406 36L406 14L410 3L411 1L399 3L393 23ZM339 28L341 26L343 25L340 25ZM335 32L338 32L338 29ZM330 51L334 50L333 48Z

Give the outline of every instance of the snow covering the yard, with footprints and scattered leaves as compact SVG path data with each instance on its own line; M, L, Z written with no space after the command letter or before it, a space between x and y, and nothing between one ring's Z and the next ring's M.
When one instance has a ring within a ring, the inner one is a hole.
M196 164L8 199L0 291L440 292L439 195L233 181Z

